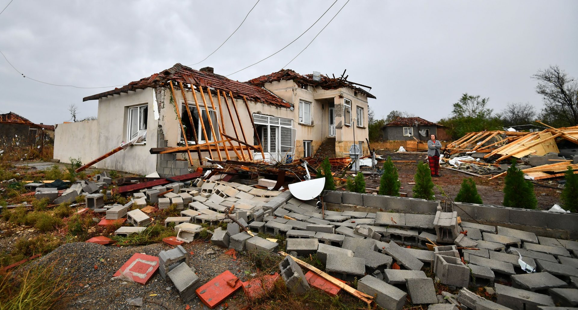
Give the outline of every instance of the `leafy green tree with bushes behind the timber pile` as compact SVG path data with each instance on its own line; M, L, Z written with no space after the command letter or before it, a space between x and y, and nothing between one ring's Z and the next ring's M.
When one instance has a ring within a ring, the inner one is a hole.
M453 104L449 118L442 118L439 124L446 126L453 139L458 139L468 132L502 129L501 114L487 107L490 98L480 98L462 94L458 102Z

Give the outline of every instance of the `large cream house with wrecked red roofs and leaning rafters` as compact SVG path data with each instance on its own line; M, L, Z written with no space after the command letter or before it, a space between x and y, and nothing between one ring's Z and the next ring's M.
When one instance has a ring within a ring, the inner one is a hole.
M172 98L171 81L175 88L175 100ZM179 81L184 83L183 91L193 124L178 88ZM150 152L151 148L184 145L174 102L177 102L188 144L195 144L195 140L198 144L206 143L206 140L219 141L225 132L232 135L234 125L229 115L233 115L240 121L240 124L235 121L239 137L243 128L246 141L258 145L253 129L255 125L266 160L283 161L287 156L301 158L313 155L326 139L333 139L335 155L348 156L347 152L354 141L363 142L368 137L367 100L375 98L356 85L342 78L314 78L292 70L281 70L241 83L213 73L210 67L194 70L176 64L121 88L84 98L84 101L98 100L98 118L58 124L54 158L64 162L68 158L81 158L83 163L87 163L131 140L139 130L144 130L146 141L109 156L95 166L143 175L154 171L161 175L186 173L190 167L184 161L188 160L187 153L151 155ZM207 94L207 89L210 89L211 96ZM217 91L221 94L218 97ZM224 104L223 92L229 104L233 105L231 110L235 108L230 114ZM194 98L200 104L206 130L202 130ZM203 101L208 104L206 109ZM238 118L235 114L239 115ZM213 129L208 126L211 124ZM215 130L215 137L212 130ZM204 150L201 160L209 156L208 148L201 148ZM367 150L366 145L364 150ZM231 159L239 159L231 150L228 152ZM255 159L262 158L260 151L251 151L251 155ZM191 150L191 156L194 166L197 166L197 152Z

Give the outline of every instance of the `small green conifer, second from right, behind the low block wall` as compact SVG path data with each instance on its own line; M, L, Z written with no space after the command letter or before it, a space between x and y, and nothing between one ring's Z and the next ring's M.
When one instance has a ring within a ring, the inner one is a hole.
M535 209L538 206L532 182L524 180L524 172L516 167L516 159L504 178L504 207Z

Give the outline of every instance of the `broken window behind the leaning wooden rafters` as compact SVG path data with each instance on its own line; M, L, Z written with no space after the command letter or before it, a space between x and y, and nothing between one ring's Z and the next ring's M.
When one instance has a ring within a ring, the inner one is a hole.
M181 122L183 122L183 128L184 128L185 134L187 136L187 143L188 144L194 144L195 143L195 137L194 137L195 132L197 132L197 140L199 141L199 144L206 143L205 134L203 133L203 129L201 127L201 121L199 121L199 113L197 111L197 107L191 106L190 104L188 106L188 109L191 112L191 116L192 116L192 124L191 124L190 118L188 117L188 113L187 113L186 109L187 108L183 104L181 106ZM209 113L207 114L207 110L201 108L201 117L202 117L203 125L205 126L205 132L207 134L207 138L209 139L209 142L215 141L214 137L213 137L213 132L211 131L210 122L213 123L213 129L215 131L215 135L218 135L218 122L217 122L216 111L209 110ZM209 118L210 118L210 122L209 122ZM181 133L181 135L182 135L182 133ZM183 141L182 136L181 136L181 141Z

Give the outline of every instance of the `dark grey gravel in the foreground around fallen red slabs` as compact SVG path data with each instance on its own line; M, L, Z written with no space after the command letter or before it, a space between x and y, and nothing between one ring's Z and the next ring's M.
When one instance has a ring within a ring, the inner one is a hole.
M191 255L190 266L194 267L202 283L221 274L231 271L242 281L247 281L251 272L246 256L237 254L237 260L224 254L227 249L213 246L206 242L183 244ZM172 285L164 281L155 272L147 285L140 285L125 280L111 280L114 272L134 254L144 253L158 256L161 250L170 249L167 244L151 244L146 246L99 245L86 242L64 244L53 252L35 260L34 264L56 262L56 271L64 275L72 275L69 296L72 298L63 308L74 309L184 309L186 304ZM156 294L156 296L150 296ZM239 291L227 300L229 309L242 308ZM129 305L127 300L143 298L142 307ZM195 298L190 304L191 309L206 309L202 302ZM216 307L219 309L221 307Z

